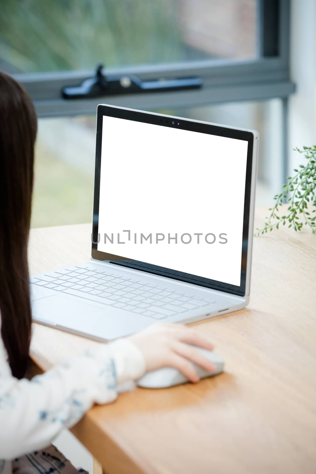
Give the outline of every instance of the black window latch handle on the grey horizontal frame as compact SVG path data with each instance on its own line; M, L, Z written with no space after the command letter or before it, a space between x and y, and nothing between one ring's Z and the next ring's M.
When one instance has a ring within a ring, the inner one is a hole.
M78 86L63 87L62 97L64 99L88 99L105 95L183 91L202 87L200 77L142 81L134 74L106 76L102 70L103 65L99 64L94 77L86 79Z

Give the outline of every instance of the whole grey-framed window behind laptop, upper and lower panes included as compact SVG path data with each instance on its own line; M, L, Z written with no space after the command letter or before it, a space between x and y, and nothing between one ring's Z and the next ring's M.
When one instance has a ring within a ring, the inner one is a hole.
M257 203L266 204L287 175L287 98L295 89L289 77L289 4L1 0L0 69L24 83L39 116L33 227L91 219L99 103L257 128ZM62 98L63 87L91 78L100 63L108 78L196 76L203 86Z

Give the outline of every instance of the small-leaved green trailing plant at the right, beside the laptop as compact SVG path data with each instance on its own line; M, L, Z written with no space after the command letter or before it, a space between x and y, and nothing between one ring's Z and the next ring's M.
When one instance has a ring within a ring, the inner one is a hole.
M293 227L295 231L301 230L303 225L309 226L315 234L316 232L316 216L311 216L316 209L311 210L312 206L316 207L316 145L303 146L303 150L294 148L298 153L303 153L308 160L307 163L300 164L299 169L294 169L296 173L293 177L288 176L288 182L283 184L280 194L274 196L275 205L271 210L271 214L267 217L264 228L256 228L256 236L266 233L269 229L279 228L280 225ZM287 211L281 212L279 208L287 205Z

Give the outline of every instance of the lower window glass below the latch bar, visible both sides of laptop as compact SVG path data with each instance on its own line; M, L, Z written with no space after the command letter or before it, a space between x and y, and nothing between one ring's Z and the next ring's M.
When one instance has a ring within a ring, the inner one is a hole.
M160 112L257 129L260 153L256 206L272 203L273 195L280 192L281 180L280 99ZM91 222L94 160L95 116L39 120L32 227Z

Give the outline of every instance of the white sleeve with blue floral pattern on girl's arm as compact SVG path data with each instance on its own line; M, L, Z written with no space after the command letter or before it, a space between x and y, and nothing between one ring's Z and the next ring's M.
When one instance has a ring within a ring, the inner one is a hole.
M31 381L14 378L8 367L0 347L0 459L49 445L94 403L114 401L117 384L142 376L145 361L133 343L120 339L86 351Z

